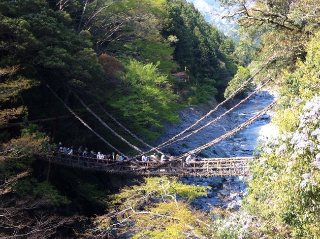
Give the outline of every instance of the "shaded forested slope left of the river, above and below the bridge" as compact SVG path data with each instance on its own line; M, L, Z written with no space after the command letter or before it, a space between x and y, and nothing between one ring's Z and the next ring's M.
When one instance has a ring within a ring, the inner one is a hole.
M0 193L9 213L1 233L43 238L71 220L50 208L81 214L105 207L97 175L50 171L34 158L56 151L59 141L112 152L65 105L130 153L74 93L141 146L97 103L139 137L155 139L162 122L179 122L175 110L223 96L237 70L234 47L224 42L230 39L185 0L1 1Z

